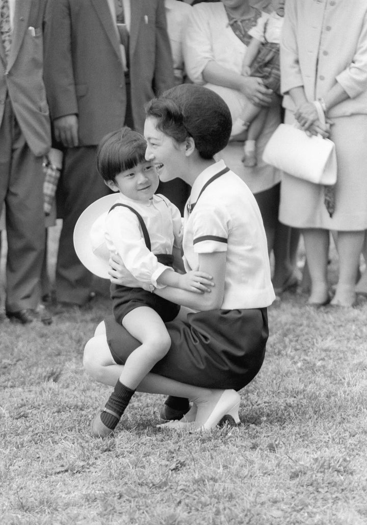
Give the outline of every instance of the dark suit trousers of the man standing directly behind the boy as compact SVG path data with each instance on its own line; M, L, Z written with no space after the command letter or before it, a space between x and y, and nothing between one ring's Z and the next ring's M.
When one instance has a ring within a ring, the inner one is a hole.
M96 146L80 146L64 151L57 194L62 209L62 228L56 263L58 301L82 306L89 300L94 276L75 254L74 227L85 208L109 193L109 188L97 171Z

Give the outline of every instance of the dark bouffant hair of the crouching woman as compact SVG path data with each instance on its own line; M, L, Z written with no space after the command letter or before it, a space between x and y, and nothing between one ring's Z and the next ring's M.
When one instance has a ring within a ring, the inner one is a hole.
M145 105L146 117L157 119L157 129L184 142L192 137L203 159L212 159L228 144L232 118L224 100L203 86L182 84Z

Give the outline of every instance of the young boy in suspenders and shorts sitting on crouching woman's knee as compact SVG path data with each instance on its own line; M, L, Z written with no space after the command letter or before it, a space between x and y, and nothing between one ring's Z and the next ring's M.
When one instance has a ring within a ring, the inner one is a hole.
M182 275L172 268L172 248L181 247L182 220L176 206L155 195L159 178L145 151L144 137L129 128L106 135L97 151L105 184L120 192L105 223L107 248L121 256L126 268L125 286L111 283L114 316L142 344L129 355L114 392L94 418L96 437L113 433L138 384L170 348L164 323L180 307L151 292L170 286L203 293L212 286L204 272Z

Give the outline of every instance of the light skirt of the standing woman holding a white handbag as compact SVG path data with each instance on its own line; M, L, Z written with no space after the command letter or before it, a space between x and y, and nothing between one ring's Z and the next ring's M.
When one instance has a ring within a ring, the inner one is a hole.
M330 139L337 152L336 209L330 218L323 186L286 173L280 186L280 222L297 228L340 232L367 229L367 115L331 119ZM286 112L286 122L294 122Z

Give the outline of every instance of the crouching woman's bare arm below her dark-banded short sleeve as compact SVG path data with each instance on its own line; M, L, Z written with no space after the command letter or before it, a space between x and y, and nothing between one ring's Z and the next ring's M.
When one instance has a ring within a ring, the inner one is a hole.
M210 254L199 254L199 271L205 272L213 277L214 287L211 292L199 295L195 292L180 290L167 286L164 289L156 289L154 293L181 306L193 310L215 310L220 308L224 297L224 277L226 265L226 252L217 251Z

